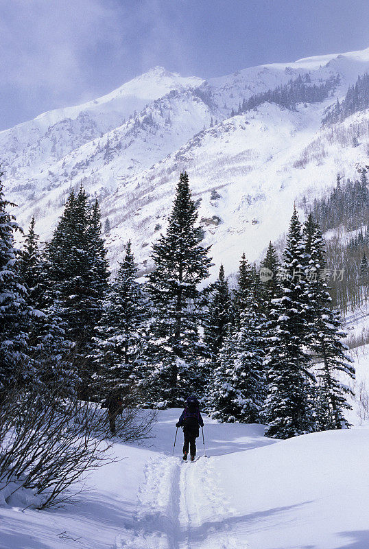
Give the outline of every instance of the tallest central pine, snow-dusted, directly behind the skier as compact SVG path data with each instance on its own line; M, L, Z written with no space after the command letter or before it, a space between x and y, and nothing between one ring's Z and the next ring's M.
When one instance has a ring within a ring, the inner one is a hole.
M201 390L198 367L201 307L198 285L209 276L211 259L191 198L187 173L180 174L166 235L153 246L154 269L147 284L156 320L147 331L146 388L160 406L182 405L189 392Z

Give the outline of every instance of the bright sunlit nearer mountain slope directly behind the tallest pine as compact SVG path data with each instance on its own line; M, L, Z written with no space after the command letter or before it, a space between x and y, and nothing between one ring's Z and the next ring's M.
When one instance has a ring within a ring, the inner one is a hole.
M320 194L333 185L337 172L356 178L357 170L369 164L369 113L353 115L333 133L319 126L317 111L323 108L302 106L294 113L264 104L200 132L132 178L103 202L113 227L108 239L112 257L121 253L124 235L145 261L145 244L158 235L156 224L165 227L178 172L187 170L194 197L201 199L200 220L205 244L212 245L214 270L223 261L227 274L235 272L243 252L257 259L287 228L296 199ZM360 136L357 148L351 145L353 135ZM122 203L123 213L117 208Z

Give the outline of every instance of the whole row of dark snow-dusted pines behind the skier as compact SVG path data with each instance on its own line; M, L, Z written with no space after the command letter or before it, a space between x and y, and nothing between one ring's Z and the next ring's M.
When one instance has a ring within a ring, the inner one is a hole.
M1 194L2 390L19 363L23 384L67 378L68 390L88 399L119 390L139 406L167 408L196 393L219 421L267 423L276 438L347 425L342 375L354 370L312 216L302 229L294 211L283 263L270 244L263 280L243 255L231 291L223 266L199 290L211 258L185 173L141 283L130 242L108 282L99 206L82 187L42 253L34 220L23 251L14 249L8 207Z

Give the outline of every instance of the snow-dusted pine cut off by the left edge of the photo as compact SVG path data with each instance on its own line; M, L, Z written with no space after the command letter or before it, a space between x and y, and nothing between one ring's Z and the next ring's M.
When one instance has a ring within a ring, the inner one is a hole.
M19 231L15 205L5 200L0 172L0 399L1 391L30 374L27 353L27 323L32 309L27 305L27 288L19 277L19 250L14 246L14 232Z

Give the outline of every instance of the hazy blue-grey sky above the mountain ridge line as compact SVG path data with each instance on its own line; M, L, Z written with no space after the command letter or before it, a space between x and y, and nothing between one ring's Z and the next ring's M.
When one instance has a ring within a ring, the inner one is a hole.
M0 0L0 130L156 65L202 78L369 46L368 0Z

